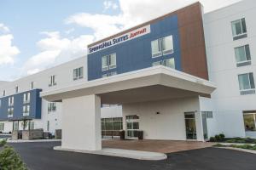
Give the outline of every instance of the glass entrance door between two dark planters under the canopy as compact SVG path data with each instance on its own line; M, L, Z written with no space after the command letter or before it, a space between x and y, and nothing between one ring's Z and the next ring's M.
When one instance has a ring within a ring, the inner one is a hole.
M139 130L139 116L132 115L126 116L126 129L127 138L135 139L138 137L137 131Z

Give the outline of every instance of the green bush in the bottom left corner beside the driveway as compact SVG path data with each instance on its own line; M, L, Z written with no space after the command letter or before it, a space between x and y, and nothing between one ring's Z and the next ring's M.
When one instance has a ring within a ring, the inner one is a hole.
M2 140L0 144L3 147L3 150L0 151L1 170L27 170L20 156L13 147L6 144L6 140Z

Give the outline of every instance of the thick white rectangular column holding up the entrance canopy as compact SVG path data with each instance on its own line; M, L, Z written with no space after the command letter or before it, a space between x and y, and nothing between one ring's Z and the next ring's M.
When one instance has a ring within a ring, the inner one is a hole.
M101 98L88 95L62 100L61 148L102 150Z

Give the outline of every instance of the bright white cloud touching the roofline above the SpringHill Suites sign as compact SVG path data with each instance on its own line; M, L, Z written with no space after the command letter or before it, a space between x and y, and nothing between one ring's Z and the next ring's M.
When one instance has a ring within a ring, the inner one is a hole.
M238 1L240 0L200 0L206 12ZM113 3L110 2L105 1L104 7L110 8ZM197 0L119 0L119 14L73 14L67 18L66 23L92 29L96 40L99 40L195 2Z

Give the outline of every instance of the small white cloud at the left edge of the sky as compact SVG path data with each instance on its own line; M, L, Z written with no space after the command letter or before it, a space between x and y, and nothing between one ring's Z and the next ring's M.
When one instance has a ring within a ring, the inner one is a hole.
M15 56L20 54L19 48L12 45L13 35L0 35L0 65L14 64Z

